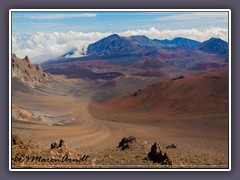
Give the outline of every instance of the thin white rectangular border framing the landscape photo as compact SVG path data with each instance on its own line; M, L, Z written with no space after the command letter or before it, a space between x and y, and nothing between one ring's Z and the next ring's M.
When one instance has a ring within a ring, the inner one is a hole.
M12 168L12 12L228 12L228 91L229 91L229 129L228 129L228 168L170 168L170 169L144 169L144 168L44 168L44 169L17 169ZM9 171L231 171L231 9L10 9L9 10Z

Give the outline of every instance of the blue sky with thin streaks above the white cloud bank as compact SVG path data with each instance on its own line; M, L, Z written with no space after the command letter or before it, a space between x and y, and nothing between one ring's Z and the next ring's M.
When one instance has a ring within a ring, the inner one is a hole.
M13 33L227 28L227 12L13 12Z

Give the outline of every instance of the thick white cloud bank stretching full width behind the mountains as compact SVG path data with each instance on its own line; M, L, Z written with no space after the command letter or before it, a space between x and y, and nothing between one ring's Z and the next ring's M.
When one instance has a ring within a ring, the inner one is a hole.
M113 32L83 33L69 31L18 33L12 35L12 52L16 53L18 57L28 55L33 63L42 63L51 58L59 57L71 49L86 49L89 44L111 34L113 34ZM201 42L211 37L219 37L225 41L228 40L228 30L218 27L210 27L203 30L183 29L163 31L150 28L148 30L128 30L125 32L117 32L117 34L121 36L146 35L150 39L186 37Z

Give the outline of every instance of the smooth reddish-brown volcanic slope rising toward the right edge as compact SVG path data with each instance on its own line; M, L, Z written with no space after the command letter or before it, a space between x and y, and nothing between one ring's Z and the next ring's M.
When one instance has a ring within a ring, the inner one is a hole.
M115 97L104 104L90 107L105 112L157 113L174 117L228 113L228 72L188 75L149 85L143 89Z

